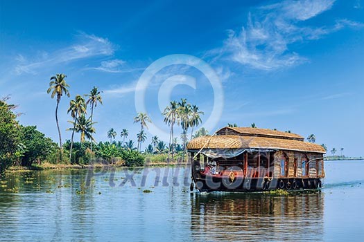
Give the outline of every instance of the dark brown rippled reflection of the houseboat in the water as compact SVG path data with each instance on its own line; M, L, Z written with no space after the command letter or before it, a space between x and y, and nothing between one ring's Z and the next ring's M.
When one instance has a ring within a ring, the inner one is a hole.
M195 194L197 241L322 241L324 194Z

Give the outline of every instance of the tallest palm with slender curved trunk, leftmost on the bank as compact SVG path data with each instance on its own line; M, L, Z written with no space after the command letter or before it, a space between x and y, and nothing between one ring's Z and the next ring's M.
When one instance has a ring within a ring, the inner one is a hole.
M49 89L46 91L46 93L51 93L51 97L57 96L57 105L55 106L55 122L57 124L58 129L58 135L60 136L60 148L62 149L62 138L60 134L60 124L58 124L58 105L60 104L60 99L62 95L67 95L69 97L69 91L65 78L67 75L64 74L56 74L51 77L51 82L49 82Z

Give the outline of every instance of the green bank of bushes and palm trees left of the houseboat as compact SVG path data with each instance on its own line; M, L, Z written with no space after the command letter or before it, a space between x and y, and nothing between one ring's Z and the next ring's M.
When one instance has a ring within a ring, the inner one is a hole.
M62 143L62 132L58 120L58 107L64 95L70 97L69 85L66 82L67 75L62 73L53 75L49 82L47 93L51 98L56 99L55 122L57 125L59 145L51 138L46 138L44 133L37 130L35 126L24 127L17 121L15 113L16 106L8 104L9 98L0 101L0 172L8 167L12 169L53 169L55 167L83 167L83 165L125 165L127 167L143 166L146 161L151 164L164 164L176 160L184 160L186 157L186 145L188 131L191 131L191 138L206 136L208 131L199 129L193 135L194 127L202 122L203 112L198 106L189 104L186 99L180 102L173 101L164 109L164 122L171 128L169 144L159 140L157 136L151 138L151 142L141 151L141 144L146 142L148 123L151 122L146 113L137 113L134 122L140 124L140 131L137 133L137 147L135 141L128 140L128 129L120 132L121 141L117 141L117 132L111 128L107 132L110 142L98 142L94 139L93 116L97 104L103 104L101 91L96 86L86 95L75 95L69 102L67 113L71 115L70 139ZM91 115L87 116L87 108L90 108ZM182 145L177 142L174 136L175 125L182 128ZM80 141L75 142L74 135L79 133ZM170 158L172 156L172 158ZM31 183L32 181L27 181Z

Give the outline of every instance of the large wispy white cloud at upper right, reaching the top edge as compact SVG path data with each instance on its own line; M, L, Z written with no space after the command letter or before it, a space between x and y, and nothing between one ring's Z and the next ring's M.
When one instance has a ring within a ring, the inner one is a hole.
M346 26L363 26L348 19L340 19L333 26L304 26L306 20L329 10L334 1L282 1L256 8L240 31L229 30L223 47L209 54L267 71L306 62L305 57L290 50L290 44L320 39Z

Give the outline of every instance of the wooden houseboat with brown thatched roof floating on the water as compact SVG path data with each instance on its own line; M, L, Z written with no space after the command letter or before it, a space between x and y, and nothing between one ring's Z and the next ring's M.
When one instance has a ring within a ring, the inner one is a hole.
M318 189L324 148L295 133L224 127L187 145L193 183L200 192Z

